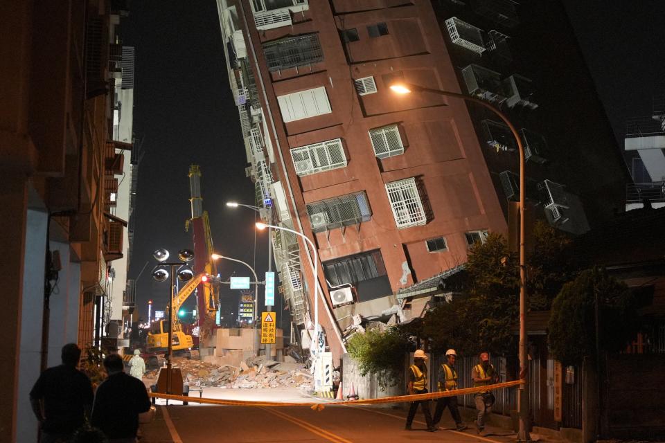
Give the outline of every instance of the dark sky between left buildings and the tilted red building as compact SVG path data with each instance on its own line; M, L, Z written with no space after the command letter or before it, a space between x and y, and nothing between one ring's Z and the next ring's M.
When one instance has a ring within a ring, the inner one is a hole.
M123 44L136 46L134 132L143 142L136 203L136 230L130 277L137 282L137 306L147 317L152 298L162 310L168 284L151 278L152 251L172 256L192 248L184 230L190 217L188 169L202 170L202 197L215 249L254 263L254 211L227 208L226 201L254 204L254 186L245 177L245 145L238 111L228 86L215 1L132 2L123 19ZM256 272L267 269L267 235L259 234ZM222 277L249 275L241 264L223 261ZM238 291L222 294L237 312ZM190 298L186 306L193 309Z

